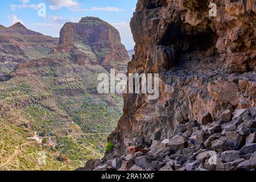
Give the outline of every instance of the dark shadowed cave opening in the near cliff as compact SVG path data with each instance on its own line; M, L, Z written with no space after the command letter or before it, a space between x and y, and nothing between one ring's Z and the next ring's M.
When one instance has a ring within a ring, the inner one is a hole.
M159 45L175 50L175 64L180 63L180 56L195 52L205 56L217 56L216 32L208 28L206 31L198 31L193 27L180 27L177 23L168 25L167 30L159 42Z

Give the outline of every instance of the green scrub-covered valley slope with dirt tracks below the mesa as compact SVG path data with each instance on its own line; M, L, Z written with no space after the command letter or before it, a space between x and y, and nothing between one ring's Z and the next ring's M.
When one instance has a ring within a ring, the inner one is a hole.
M98 54L85 42L68 44L68 51L56 51L65 47L60 44L46 57L18 64L10 80L0 82L0 169L72 170L104 155L122 115L122 96L98 94L97 76L109 74L106 64L97 63ZM77 53L96 59L87 63ZM28 139L35 132L38 142ZM46 164L38 161L42 152Z

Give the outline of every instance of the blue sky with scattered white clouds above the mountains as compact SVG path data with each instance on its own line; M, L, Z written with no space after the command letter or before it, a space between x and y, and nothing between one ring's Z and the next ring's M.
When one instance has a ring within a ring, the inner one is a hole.
M46 5L46 16L40 17L39 3ZM78 22L84 16L96 16L112 24L121 34L126 48L134 42L129 22L137 0L9 0L0 1L0 24L9 27L16 22L44 35L59 37L65 22Z

